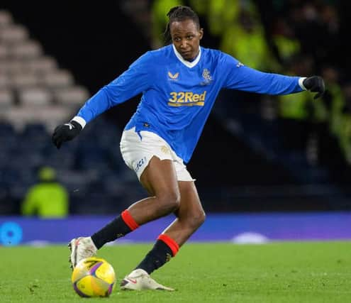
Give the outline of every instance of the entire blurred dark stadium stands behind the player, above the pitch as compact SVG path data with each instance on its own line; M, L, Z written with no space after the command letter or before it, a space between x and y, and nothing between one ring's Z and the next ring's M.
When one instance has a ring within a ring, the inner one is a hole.
M55 168L67 187L70 215L118 214L144 197L119 152L138 97L99 116L61 150L50 136L100 87L162 45L165 14L178 4L199 13L202 46L220 48L258 70L322 75L327 87L317 101L308 93L221 93L188 165L206 212L247 218L267 212L349 214L347 1L3 0L0 221L21 215L21 202L43 165Z

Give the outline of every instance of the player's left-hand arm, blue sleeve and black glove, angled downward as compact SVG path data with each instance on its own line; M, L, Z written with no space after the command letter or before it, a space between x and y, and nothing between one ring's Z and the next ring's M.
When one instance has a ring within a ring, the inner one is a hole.
M74 116L69 123L57 126L52 134L52 142L56 147L60 148L62 143L78 136L84 126L99 114L149 89L152 85L151 59L150 53L141 56L126 72L102 87L85 102L77 116Z

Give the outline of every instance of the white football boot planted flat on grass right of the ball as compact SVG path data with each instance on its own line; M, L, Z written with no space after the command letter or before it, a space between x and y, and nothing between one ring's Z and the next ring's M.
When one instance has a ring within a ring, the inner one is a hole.
M121 290L168 290L173 288L161 285L150 277L145 270L137 269L130 272L121 282Z

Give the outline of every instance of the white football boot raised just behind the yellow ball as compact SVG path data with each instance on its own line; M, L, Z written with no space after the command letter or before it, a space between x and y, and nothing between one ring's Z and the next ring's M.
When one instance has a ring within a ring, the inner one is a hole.
M71 268L76 267L80 260L96 255L97 248L91 237L74 238L68 243L71 255L69 256L69 263Z

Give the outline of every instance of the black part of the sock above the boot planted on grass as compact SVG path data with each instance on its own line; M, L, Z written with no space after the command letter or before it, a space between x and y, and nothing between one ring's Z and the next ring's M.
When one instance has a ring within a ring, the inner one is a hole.
M141 268L145 270L149 275L157 268L160 268L166 262L171 260L173 256L171 248L167 246L167 244L161 240L157 240L155 246L152 250L145 255L145 258L141 263L135 268Z

